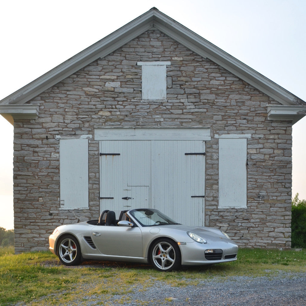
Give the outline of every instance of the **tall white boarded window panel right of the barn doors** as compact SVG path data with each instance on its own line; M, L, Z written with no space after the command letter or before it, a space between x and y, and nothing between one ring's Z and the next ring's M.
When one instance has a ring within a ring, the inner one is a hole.
M247 139L219 139L219 208L247 207Z

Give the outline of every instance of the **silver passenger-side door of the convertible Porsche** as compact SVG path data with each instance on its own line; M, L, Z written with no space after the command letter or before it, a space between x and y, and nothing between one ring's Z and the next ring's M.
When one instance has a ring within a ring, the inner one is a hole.
M139 227L95 226L91 237L99 251L110 256L142 257Z

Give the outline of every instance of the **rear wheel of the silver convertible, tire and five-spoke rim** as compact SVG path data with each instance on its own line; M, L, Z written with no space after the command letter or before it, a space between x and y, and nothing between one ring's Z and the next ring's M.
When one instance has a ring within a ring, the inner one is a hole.
M59 260L66 266L75 266L82 261L80 244L76 237L72 235L65 235L60 238L57 254Z

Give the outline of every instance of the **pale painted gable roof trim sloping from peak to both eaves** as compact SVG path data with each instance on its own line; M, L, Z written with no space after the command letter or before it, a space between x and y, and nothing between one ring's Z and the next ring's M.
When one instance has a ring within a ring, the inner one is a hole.
M24 103L84 66L98 58L105 57L150 29L158 29L196 54L209 58L278 101L281 105L295 106L299 112L306 111L306 103L303 100L153 7L97 43L94 43L28 85L2 99L0 101L0 113L8 114L9 110L17 110L17 105L24 105ZM24 108L22 111L24 112ZM21 111L19 114L21 114ZM304 117L304 114L302 114L302 117Z

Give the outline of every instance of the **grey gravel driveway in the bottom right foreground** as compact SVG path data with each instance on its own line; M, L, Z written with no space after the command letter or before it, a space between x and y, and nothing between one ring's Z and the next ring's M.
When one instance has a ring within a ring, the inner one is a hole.
M201 306L305 306L306 274L282 274L276 278L235 277L226 281L201 281L197 286L171 287L156 282L145 293L135 293L138 300L155 300L148 305ZM160 302L158 302L158 300ZM165 303L165 301L167 301ZM131 306L137 304L129 304Z

